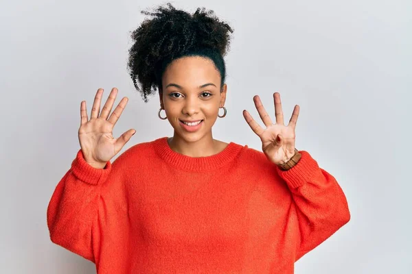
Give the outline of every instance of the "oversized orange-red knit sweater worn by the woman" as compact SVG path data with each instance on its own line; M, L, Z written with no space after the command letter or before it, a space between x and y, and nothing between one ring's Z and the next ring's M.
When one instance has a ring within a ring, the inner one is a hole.
M280 170L234 142L192 158L167 137L95 169L80 149L49 201L57 245L98 273L293 273L350 220L336 179L306 151Z

